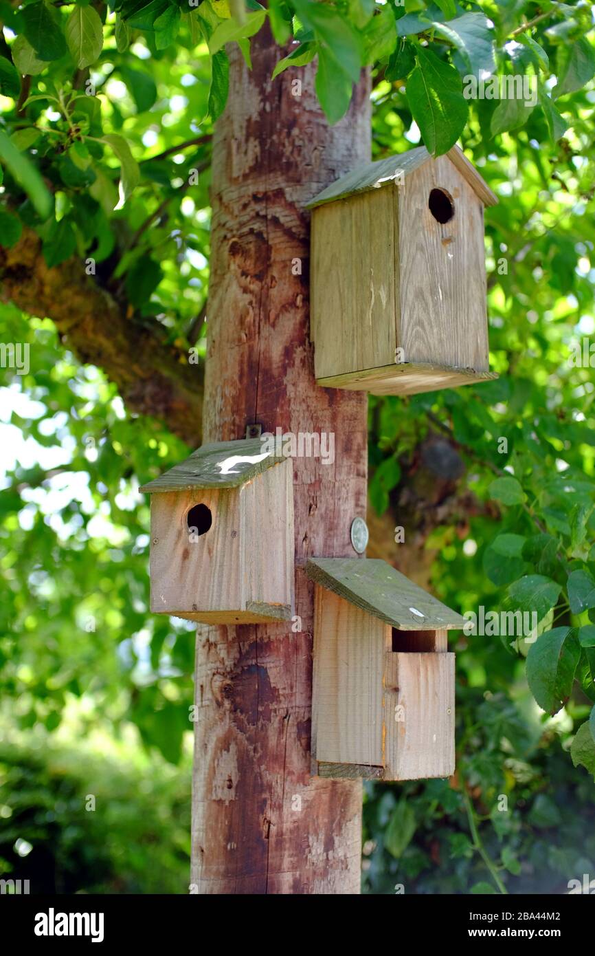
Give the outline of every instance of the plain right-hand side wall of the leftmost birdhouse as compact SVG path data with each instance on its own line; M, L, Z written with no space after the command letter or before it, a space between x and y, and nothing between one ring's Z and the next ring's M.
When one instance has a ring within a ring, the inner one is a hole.
M289 619L293 604L293 465L290 459L240 490L244 606L277 609Z

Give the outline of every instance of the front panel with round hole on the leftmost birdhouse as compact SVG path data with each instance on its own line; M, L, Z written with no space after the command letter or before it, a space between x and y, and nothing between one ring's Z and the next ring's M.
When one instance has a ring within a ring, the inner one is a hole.
M201 620L241 609L239 529L236 489L154 494L151 610Z

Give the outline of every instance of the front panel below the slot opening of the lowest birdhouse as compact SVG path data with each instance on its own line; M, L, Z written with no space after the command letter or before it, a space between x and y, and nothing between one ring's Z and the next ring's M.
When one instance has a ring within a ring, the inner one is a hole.
M455 655L386 655L385 780L455 772Z

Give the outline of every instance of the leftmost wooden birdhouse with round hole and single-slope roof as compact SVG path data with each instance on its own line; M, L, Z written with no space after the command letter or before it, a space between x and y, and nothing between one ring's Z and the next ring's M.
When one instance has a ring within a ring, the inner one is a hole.
M260 439L202 445L151 493L151 610L209 624L291 617L293 468Z

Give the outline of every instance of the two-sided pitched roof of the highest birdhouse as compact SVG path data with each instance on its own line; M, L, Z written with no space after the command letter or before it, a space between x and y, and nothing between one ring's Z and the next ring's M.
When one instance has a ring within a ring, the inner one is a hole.
M446 153L446 156L457 167L460 175L475 189L483 205L496 206L498 196L479 176L478 170L469 162L463 151L458 146L453 146ZM314 196L307 204L307 208L313 209L315 206L332 203L335 199L345 199L347 196L353 196L356 193L368 192L369 189L378 189L383 185L393 183L401 176L406 181L409 173L413 173L419 166L429 163L433 159L425 146L416 146L415 149L410 149L407 153L390 156L388 160L379 160L376 163L356 166L355 169L351 169L351 172L346 173L341 179L331 183L317 196Z

